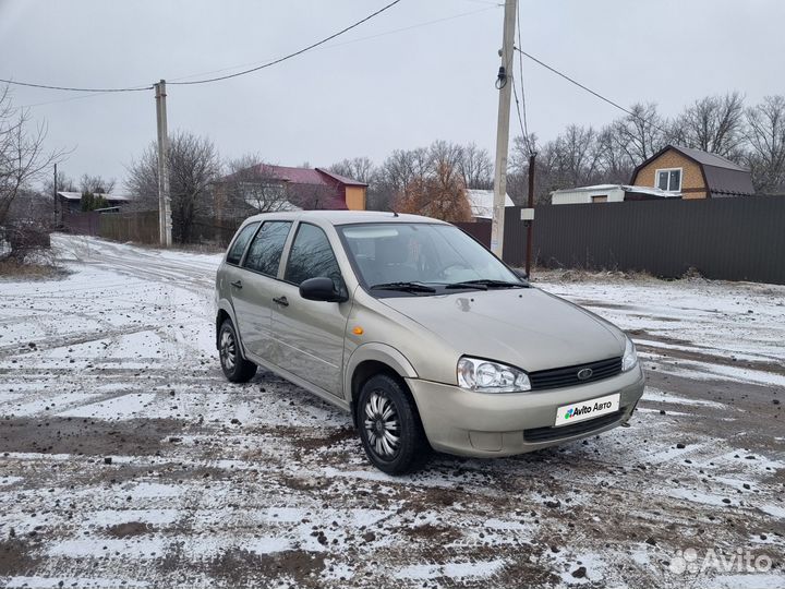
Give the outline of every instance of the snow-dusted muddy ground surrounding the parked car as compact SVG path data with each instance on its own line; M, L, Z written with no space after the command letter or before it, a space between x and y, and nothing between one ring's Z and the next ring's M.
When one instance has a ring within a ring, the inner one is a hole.
M785 287L538 283L636 340L631 426L391 478L224 380L220 256L53 242L68 277L0 278L1 587L785 587Z

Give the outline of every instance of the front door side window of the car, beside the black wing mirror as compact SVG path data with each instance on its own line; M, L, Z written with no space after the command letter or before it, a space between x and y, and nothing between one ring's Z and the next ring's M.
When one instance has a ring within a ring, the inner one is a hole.
M331 278L336 289L342 289L340 268L327 236L316 226L300 224L283 279L300 285L303 280L319 276Z

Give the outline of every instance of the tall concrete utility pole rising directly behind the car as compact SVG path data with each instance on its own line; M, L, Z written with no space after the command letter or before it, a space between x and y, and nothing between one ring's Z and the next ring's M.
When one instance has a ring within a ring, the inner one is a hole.
M496 166L494 168L494 211L491 224L491 251L502 257L504 251L504 207L507 195L507 149L509 148L509 109L512 96L512 58L516 12L518 0L506 0L502 67L496 87L499 91L498 121L496 123Z

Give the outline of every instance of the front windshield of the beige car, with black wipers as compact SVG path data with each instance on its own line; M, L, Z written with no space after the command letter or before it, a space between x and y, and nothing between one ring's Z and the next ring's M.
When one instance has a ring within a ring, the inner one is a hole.
M451 225L384 223L338 229L361 280L379 292L415 296L526 285Z

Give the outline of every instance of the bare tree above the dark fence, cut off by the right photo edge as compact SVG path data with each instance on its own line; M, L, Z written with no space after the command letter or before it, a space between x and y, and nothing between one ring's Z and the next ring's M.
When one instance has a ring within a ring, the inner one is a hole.
M785 192L785 96L747 109L747 163L758 192Z

